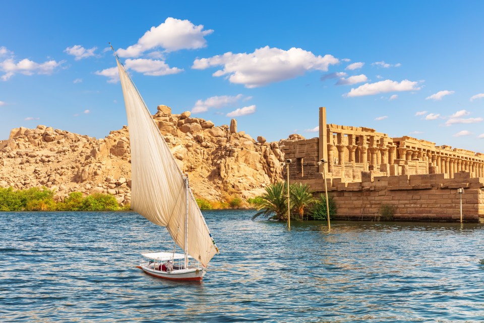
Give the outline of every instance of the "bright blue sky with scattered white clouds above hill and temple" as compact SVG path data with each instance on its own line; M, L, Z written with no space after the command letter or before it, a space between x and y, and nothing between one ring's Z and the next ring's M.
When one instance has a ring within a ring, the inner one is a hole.
M275 141L328 122L484 152L484 3L2 2L0 139L127 124L108 42L150 111ZM479 138L479 136L481 138Z

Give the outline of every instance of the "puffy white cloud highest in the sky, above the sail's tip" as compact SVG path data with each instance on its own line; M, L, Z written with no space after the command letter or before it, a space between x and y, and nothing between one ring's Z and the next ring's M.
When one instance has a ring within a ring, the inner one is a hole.
M158 47L166 51L203 48L207 45L204 37L212 32L212 29L203 30L203 25L195 26L189 20L168 17L158 27L153 26L145 32L136 44L118 49L117 55L139 57L143 52Z

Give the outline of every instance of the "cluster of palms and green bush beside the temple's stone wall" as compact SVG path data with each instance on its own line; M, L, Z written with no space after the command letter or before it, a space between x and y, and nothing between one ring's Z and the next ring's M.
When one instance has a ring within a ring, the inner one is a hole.
M336 213L336 203L328 196L330 219ZM266 192L257 199L254 205L258 212L253 219L264 216L275 220L287 220L287 185L275 183L266 187ZM313 192L308 185L289 185L290 217L294 220L326 220L326 196L321 194L319 198L313 197Z

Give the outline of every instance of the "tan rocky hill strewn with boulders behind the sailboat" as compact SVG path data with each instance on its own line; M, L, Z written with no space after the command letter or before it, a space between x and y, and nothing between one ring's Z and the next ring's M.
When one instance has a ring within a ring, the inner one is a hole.
M179 167L189 174L196 196L247 199L282 179L279 143L237 131L235 119L230 126L216 127L190 118L188 111L171 114L166 105L159 105L153 118ZM0 141L0 187L46 186L61 200L73 191L109 193L119 203L129 203L130 162L127 126L102 139L46 126L20 127Z

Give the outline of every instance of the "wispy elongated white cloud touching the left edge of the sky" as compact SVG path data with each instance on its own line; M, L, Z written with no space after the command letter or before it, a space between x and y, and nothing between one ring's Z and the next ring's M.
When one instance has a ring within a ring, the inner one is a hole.
M16 62L13 58L7 59L0 62L0 71L5 72L1 79L3 81L9 80L16 73L23 75L34 75L34 74L52 74L53 71L61 66L64 61L56 62L54 60L47 61L44 63L35 63L29 59L23 59Z

